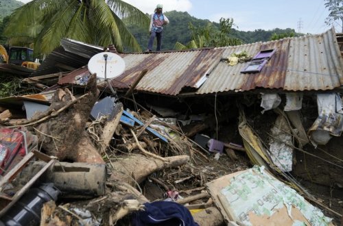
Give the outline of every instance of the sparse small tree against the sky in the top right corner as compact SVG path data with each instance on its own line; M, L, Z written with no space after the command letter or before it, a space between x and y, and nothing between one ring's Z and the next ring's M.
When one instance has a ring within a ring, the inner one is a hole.
M333 25L337 23L343 32L343 0L324 0L325 8L328 8L330 14L325 23Z

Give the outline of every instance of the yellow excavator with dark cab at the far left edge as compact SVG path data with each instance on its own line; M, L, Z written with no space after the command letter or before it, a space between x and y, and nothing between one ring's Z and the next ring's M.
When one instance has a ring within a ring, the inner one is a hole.
M34 61L34 50L27 47L10 47L7 52L5 47L0 45L0 63L16 64L25 68L36 70L40 65Z

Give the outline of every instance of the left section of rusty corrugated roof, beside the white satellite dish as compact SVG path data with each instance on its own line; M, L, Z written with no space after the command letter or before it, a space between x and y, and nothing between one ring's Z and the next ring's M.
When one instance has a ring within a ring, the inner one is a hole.
M128 88L134 79L147 69L136 90L177 95L186 88L196 88L196 83L222 57L220 49L178 51L173 53L147 53L121 55L126 71L113 79L115 88Z

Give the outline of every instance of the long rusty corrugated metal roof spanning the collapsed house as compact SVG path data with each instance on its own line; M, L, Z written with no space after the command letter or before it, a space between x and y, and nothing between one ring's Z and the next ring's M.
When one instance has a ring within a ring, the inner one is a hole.
M276 53L259 73L243 74L246 64L229 66L222 60L239 51L254 56L265 49L276 49ZM114 88L129 88L141 71L147 69L136 90L163 95L186 92L203 95L257 88L333 90L343 84L343 60L333 29L318 35L235 47L119 55L126 62L126 71L113 79ZM204 81L200 88L198 81Z

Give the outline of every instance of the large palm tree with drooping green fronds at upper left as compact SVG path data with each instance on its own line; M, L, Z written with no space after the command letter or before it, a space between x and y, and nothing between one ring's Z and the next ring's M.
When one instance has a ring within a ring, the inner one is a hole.
M36 53L50 53L61 38L141 51L122 18L143 27L149 24L143 12L121 0L33 0L11 15L5 34L12 42L32 38Z

